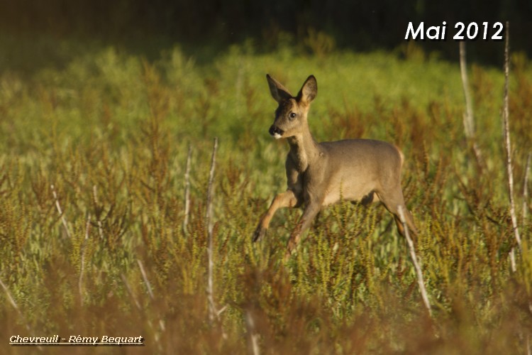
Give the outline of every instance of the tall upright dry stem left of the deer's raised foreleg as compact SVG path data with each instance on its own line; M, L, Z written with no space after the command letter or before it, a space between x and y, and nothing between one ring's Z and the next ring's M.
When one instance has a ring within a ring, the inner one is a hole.
M209 321L213 322L216 315L216 305L214 305L213 295L213 223L212 223L212 198L214 194L214 167L216 165L216 150L218 149L218 138L214 138L214 146L212 149L211 171L209 173L209 186L207 187L207 207L205 223L207 225L207 232L209 234L209 246L207 248L207 256L209 257L209 275L207 281L207 299L209 300Z

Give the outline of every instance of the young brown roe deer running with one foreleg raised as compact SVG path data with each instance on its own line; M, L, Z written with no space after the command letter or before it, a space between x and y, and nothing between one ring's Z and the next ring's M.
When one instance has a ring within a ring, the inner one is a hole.
M401 151L390 143L372 139L317 143L306 119L310 103L318 92L314 75L306 79L296 97L270 75L266 78L272 97L279 104L270 134L277 139L286 138L290 146L285 163L288 186L262 215L253 241L266 234L277 209L304 206L287 244L285 259L289 258L301 234L309 228L320 209L340 200L362 204L381 201L394 215L399 234L404 236L398 212L400 206L409 230L416 234L414 220L406 209L401 190L404 159Z

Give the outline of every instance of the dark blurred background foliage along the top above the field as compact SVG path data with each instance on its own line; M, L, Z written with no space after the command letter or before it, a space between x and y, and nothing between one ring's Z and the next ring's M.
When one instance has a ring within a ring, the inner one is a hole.
M338 48L375 50L404 42L409 21L440 26L447 40L421 43L456 59L451 40L457 21L511 21L512 48L531 54L532 3L526 0L21 0L0 2L0 29L11 35L48 34L135 46L150 42L157 51L172 41L228 45L253 38L260 50L271 50L289 34L303 40L309 31L326 33ZM157 38L157 39L154 39ZM146 46L143 47L144 50ZM501 59L501 43L477 40L470 58L493 64ZM138 47L137 47L138 49Z

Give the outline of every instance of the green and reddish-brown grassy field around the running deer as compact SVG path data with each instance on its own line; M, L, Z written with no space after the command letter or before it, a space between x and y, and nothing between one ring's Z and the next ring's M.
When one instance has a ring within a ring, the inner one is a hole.
M62 349L8 343L58 334L145 338L142 348L69 348L74 354L244 354L252 339L262 354L530 353L532 214L523 217L531 207L523 188L532 67L523 55L513 55L509 96L523 239L512 272L498 68L469 67L478 161L462 124L458 64L414 45L353 53L316 35L270 53L245 43L216 55L176 45L145 56L4 36L0 47L0 280L9 290L0 289L0 352L56 354ZM309 124L318 141L376 138L402 149L433 315L406 242L378 204L326 209L288 263L299 210L279 211L267 238L251 243L286 184L287 144L267 133L277 106L266 73L293 92L316 76ZM210 322L214 137L213 297L223 312Z

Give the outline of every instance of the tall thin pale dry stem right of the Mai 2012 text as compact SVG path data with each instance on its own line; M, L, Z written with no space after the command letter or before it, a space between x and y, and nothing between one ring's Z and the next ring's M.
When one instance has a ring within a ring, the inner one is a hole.
M509 58L509 37L510 24L506 21L506 41L504 44L504 109L503 109L503 125L504 125L504 151L506 153L506 172L508 173L508 192L510 198L510 217L512 228L514 229L514 236L517 241L519 250L521 249L521 237L519 236L519 226L517 226L516 206L514 201L514 174L511 163L511 141L510 141L510 127L509 127L509 109L508 109L508 82L510 72L510 58ZM515 270L514 270L515 271Z

